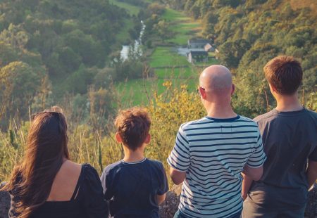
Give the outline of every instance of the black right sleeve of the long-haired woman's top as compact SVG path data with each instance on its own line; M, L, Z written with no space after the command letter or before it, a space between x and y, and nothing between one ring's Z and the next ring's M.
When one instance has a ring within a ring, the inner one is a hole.
M85 165L84 207L89 218L108 217L108 205L104 200L99 175L90 165Z

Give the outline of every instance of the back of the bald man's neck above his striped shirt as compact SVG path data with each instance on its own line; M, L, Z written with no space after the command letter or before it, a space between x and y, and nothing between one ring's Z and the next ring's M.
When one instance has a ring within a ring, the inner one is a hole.
M206 105L205 108L209 117L219 119L237 117L237 114L232 110L230 103L209 103L209 105Z

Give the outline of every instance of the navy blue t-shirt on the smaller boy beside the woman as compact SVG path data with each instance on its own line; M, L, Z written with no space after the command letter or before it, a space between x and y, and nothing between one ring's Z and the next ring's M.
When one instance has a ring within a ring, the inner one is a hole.
M108 165L101 174L101 184L114 218L158 218L156 195L168 191L162 163L147 158L140 162L120 160Z

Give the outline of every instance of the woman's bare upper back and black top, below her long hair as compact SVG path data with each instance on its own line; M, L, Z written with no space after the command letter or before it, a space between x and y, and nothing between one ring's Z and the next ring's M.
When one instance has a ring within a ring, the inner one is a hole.
M19 181L17 181L18 185ZM19 196L11 193L9 217L15 212ZM31 218L63 217L107 217L108 208L104 201L101 182L96 169L90 165L78 165L66 160L56 174L49 198L32 212Z

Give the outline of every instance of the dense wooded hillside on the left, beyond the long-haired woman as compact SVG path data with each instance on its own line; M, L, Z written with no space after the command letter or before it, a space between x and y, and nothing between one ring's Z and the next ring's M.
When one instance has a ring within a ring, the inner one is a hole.
M87 105L89 86L109 88L104 67L129 18L125 10L105 0L18 0L1 1L0 12L2 127L10 117L25 119L29 107L42 109L66 96ZM74 110L91 109L82 105Z

